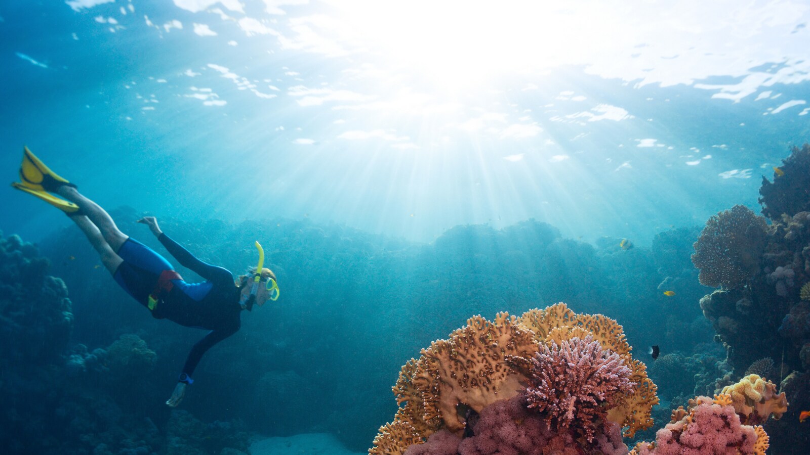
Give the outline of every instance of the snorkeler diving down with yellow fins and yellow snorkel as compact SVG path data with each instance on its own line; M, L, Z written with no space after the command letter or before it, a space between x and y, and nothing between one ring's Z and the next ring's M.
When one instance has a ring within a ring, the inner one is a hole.
M28 147L23 152L19 177L20 181L11 185L64 211L90 240L113 279L153 317L211 330L191 348L172 397L166 402L168 406L180 404L186 386L194 382L191 375L203 354L239 330L243 309L250 311L254 304L262 306L267 300L279 298L275 274L262 268L264 251L258 242L258 266L234 285L230 271L194 257L160 230L155 217L139 219L138 223L146 224L177 262L206 279L204 283L186 283L164 257L119 231L104 209L47 168Z

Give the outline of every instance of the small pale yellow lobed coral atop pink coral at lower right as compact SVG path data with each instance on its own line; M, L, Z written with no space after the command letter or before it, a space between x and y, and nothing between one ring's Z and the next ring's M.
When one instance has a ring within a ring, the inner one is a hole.
M746 424L763 423L770 415L778 420L787 411L785 393L777 394L773 382L755 374L723 387L723 393L731 395L734 410L745 418L743 423Z

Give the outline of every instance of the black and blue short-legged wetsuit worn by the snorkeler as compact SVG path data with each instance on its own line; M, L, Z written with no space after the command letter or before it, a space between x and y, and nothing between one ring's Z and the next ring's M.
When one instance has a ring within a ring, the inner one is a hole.
M204 283L185 283L182 279L172 279L168 286L171 289L164 287L158 304L152 309L154 317L166 318L186 327L211 330L191 348L185 360L182 372L190 377L208 349L239 330L240 289L234 285L233 276L227 269L200 261L166 234L160 234L158 240L181 266L207 280ZM118 266L113 277L130 296L149 308L149 295L156 291L160 275L165 270L173 270L173 266L132 237L118 250L118 256L124 262Z

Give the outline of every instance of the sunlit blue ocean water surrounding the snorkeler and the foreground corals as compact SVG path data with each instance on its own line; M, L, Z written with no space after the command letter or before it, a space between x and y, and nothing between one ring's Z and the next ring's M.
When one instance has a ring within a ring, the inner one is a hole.
M233 274L258 240L281 289L170 409L205 332L0 190L0 444L366 453L422 348L562 301L623 325L658 385L634 440L770 358L791 405L769 453L810 453L810 161L783 162L810 142L808 23L804 0L0 0L6 180L28 146L189 281L137 219ZM763 177L799 218L728 240L714 264L747 274L712 283L693 244L721 210L759 215Z

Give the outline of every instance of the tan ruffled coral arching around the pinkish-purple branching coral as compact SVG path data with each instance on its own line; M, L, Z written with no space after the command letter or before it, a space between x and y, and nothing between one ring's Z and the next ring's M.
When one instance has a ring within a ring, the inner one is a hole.
M577 314L565 304L532 309L521 317L498 313L494 321L475 316L420 352L419 359L403 365L393 387L402 406L394 422L380 427L371 455L401 455L411 444L421 443L441 428L460 433L465 427L457 406L480 412L501 399L512 398L527 382L529 359L539 343L562 342L590 334L604 349L616 352L633 371L634 392L608 418L619 423L625 436L652 425L650 412L658 403L656 387L646 376L646 366L633 359L624 331L603 315Z

